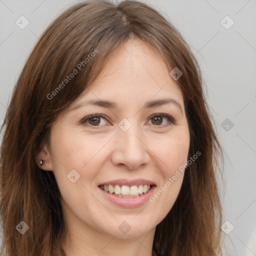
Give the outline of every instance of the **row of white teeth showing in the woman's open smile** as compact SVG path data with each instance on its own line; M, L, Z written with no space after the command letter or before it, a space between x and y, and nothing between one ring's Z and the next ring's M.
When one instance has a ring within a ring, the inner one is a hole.
M99 185L98 187L104 190L107 193L124 197L124 198L133 198L139 197L147 193L153 185Z

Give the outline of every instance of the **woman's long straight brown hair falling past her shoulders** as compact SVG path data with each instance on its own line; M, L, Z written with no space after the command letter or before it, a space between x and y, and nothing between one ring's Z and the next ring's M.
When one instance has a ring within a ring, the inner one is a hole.
M65 234L60 191L53 173L36 165L35 155L57 114L89 88L111 53L132 37L151 45L168 70L178 67L182 71L176 83L189 125L189 154L201 153L186 168L173 207L156 226L153 252L164 256L221 254L216 170L222 149L194 55L175 27L154 8L135 0L118 5L90 0L69 7L48 26L15 84L1 127L1 255L65 255L59 245ZM74 77L65 80L71 72ZM21 220L29 227L24 234L15 228Z

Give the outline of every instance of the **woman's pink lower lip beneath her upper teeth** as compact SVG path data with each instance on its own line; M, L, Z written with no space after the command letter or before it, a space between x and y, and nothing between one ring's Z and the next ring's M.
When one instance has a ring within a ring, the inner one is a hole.
M155 188L155 185L151 186L150 189L146 192L143 193L142 195L138 196L138 197L119 197L117 195L111 194L106 192L105 190L101 189L100 187L98 187L101 192L103 193L103 195L112 203L121 206L121 207L125 207L125 208L133 208L133 207L138 207L141 206L142 204L144 204L149 197L152 195L153 190Z

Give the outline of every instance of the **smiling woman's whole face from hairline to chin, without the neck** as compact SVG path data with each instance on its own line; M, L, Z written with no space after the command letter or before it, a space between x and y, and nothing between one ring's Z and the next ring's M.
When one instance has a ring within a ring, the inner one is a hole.
M40 168L55 175L69 229L138 237L171 209L189 131L169 71L147 44L127 41L56 119Z

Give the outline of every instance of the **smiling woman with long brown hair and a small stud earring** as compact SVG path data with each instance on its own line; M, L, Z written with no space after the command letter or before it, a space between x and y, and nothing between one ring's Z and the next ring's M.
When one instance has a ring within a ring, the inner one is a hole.
M3 122L1 255L217 255L221 147L196 59L152 7L75 4Z

